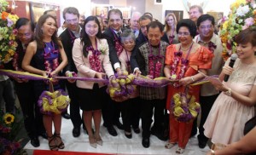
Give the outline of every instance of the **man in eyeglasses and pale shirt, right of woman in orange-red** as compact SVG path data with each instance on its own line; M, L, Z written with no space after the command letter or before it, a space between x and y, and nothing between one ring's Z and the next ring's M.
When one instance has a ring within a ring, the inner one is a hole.
M223 46L218 35L214 34L214 18L212 15L203 14L197 20L197 29L199 35L195 36L196 43L205 46L214 54L212 59L212 69L208 70L208 75L219 75L224 65L222 58ZM212 108L214 101L217 99L219 91L214 88L211 83L205 83L201 86L201 121L199 126L198 146L204 148L207 145L208 138L204 135L203 125ZM196 120L196 119L195 119ZM196 121L194 122L196 124ZM196 129L196 128L195 128ZM197 130L197 129L196 129Z

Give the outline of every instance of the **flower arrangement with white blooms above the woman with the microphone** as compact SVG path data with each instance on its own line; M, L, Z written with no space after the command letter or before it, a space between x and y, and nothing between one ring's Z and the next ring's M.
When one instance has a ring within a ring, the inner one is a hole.
M224 59L236 53L236 35L241 30L256 26L256 9L254 0L236 0L230 5L229 18L220 20L220 37L224 46Z

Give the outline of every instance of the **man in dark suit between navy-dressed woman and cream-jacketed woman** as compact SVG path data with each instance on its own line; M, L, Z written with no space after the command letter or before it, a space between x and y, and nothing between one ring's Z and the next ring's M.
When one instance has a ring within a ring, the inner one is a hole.
M68 77L71 72L78 72L73 62L72 49L74 40L80 37L79 10L73 7L66 8L63 10L63 18L67 23L67 29L61 33L60 38L68 60L67 66L63 69L63 74ZM79 100L77 97L78 88L74 80L67 80L65 84L71 99L70 118L73 123L73 136L79 137L83 120L80 116Z

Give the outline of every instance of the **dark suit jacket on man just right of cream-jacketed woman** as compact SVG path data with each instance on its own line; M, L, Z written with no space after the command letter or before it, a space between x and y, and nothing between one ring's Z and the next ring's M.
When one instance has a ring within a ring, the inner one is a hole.
M113 34L113 32L110 30L110 28L108 28L103 32L103 37L106 38L108 41L109 58L110 58L112 65L114 65L117 62L120 63L119 57L118 57L116 49L115 49L115 42L114 42L114 38L118 37L117 34L115 34L115 33Z

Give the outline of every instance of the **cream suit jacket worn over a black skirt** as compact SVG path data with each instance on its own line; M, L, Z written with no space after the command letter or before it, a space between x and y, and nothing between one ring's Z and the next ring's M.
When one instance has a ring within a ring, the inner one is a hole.
M97 39L98 47L101 45L108 46L106 39ZM105 51L105 54L100 55L102 69L108 77L113 75L113 68L111 66L111 62L109 61L109 51L108 48ZM89 57L92 55L91 51L88 51L87 57L84 57L83 53L83 45L81 45L80 38L77 38L73 43L73 61L75 66L78 69L78 77L84 78L95 78L96 71L90 68L90 61ZM93 82L86 82L86 81L77 81L77 86L82 89L92 89ZM103 84L99 83L99 86L102 87Z

